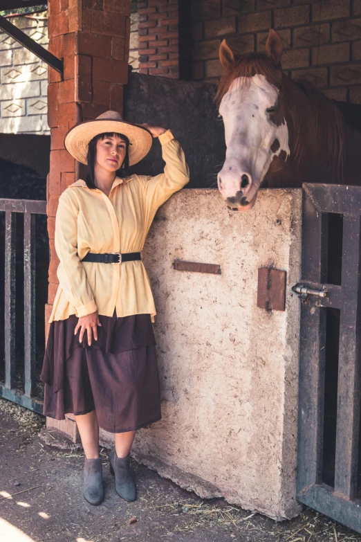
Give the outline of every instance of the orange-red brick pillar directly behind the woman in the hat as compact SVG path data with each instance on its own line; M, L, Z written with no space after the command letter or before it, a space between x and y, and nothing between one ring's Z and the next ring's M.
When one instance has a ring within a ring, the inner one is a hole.
M64 149L68 129L108 109L122 111L123 85L127 83L131 0L50 0L49 51L64 59L64 77L48 74L48 125L50 172L47 180L50 266L46 323L57 290L57 255L54 233L59 195L80 174L80 165ZM46 335L48 324L46 325ZM68 433L67 422L48 419Z

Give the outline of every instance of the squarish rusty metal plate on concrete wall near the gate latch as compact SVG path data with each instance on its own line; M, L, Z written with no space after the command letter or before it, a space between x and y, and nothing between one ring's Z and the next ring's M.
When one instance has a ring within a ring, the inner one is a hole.
M286 308L286 271L262 267L258 270L257 307L272 311Z

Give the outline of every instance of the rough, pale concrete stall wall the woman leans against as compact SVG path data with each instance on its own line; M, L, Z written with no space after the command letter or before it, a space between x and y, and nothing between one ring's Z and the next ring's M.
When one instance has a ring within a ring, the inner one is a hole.
M156 216L144 251L158 316L163 419L135 457L203 497L276 519L295 501L301 190L261 190L249 213L216 190L183 190ZM221 264L221 275L174 260ZM257 307L259 267L287 271L286 311ZM110 435L105 435L105 438ZM104 435L103 435L104 438Z

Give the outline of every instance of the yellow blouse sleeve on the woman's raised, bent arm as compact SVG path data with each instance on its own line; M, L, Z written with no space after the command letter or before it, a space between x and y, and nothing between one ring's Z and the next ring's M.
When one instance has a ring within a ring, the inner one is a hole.
M174 139L172 132L167 130L165 134L161 134L159 141L165 161L164 172L155 177L148 177L145 181L145 201L154 210L189 181L189 168L183 149Z

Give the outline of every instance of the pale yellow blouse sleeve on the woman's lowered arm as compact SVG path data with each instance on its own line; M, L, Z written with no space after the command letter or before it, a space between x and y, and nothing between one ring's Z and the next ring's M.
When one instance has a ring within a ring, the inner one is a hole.
M68 190L74 190L69 188ZM86 278L84 265L77 255L76 197L66 190L59 198L55 218L55 250L60 260L57 278L68 302L75 307L75 314L86 316L97 310L93 292Z

